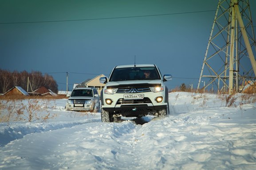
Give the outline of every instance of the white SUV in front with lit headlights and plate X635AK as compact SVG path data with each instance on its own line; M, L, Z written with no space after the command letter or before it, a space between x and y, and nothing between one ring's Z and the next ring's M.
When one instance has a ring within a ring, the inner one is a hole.
M100 78L106 86L101 91L102 122L148 114L162 117L169 114L168 88L164 82L171 75L161 76L154 64L116 66L109 80Z

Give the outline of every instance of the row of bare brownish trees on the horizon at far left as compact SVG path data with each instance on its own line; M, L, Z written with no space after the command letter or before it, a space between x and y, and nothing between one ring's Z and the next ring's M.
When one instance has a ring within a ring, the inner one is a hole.
M29 79L29 81L28 81ZM28 88L29 82L29 88ZM20 86L28 92L35 91L41 86L51 89L51 91L57 93L58 85L52 76L42 74L41 72L32 71L28 73L23 72L9 72L7 70L0 69L0 93L5 93L14 86Z

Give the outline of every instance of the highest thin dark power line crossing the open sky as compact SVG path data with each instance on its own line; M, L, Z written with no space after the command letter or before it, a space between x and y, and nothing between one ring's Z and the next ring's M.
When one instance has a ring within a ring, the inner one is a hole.
M54 21L10 22L10 23L0 23L0 24L19 24L19 23L55 23L55 22L91 21L91 20L103 20L103 19L124 19L124 18L139 18L139 17L150 17L150 16L164 16L164 15L193 14L193 13L212 12L212 11L216 11L216 10L207 10L207 11L189 11L189 12L177 12L177 13L169 13L169 14L136 15L136 16L123 16L123 17L110 17L110 18L95 18L95 19L69 19L69 20L54 20Z

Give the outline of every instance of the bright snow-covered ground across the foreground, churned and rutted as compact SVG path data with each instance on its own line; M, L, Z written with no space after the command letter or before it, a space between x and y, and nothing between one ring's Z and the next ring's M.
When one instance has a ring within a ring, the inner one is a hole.
M256 170L256 103L169 94L164 118L102 123L54 102L47 123L0 124L0 170Z

